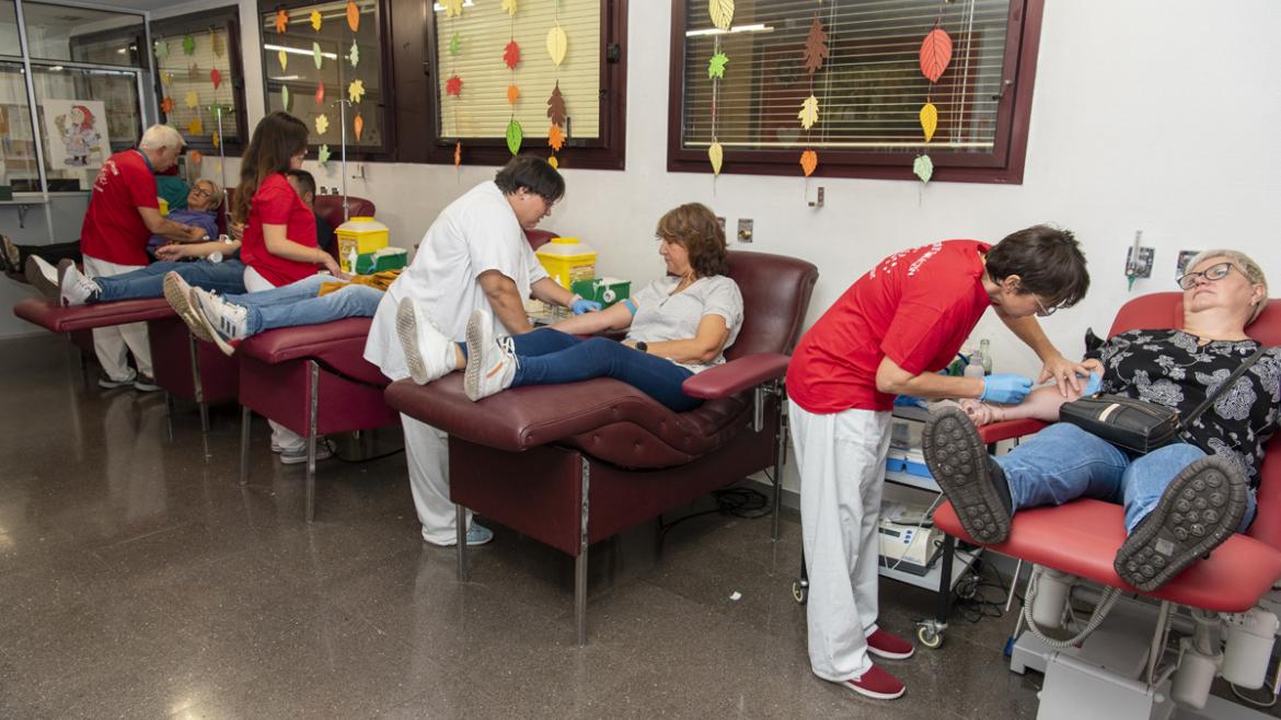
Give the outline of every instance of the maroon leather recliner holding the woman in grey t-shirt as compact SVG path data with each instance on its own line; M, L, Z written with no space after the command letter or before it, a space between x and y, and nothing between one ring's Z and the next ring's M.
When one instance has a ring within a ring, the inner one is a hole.
M685 380L687 393L707 400L689 413L605 378L512 388L480 402L464 395L461 373L388 386L391 406L450 433L460 579L464 507L574 556L583 644L591 543L770 466L776 533L783 377L819 270L794 258L733 251L729 274L743 293L743 327L725 365Z

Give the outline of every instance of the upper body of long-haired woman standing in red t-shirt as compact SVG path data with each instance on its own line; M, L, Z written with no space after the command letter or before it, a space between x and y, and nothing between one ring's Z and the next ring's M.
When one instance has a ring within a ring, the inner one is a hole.
M314 275L316 265L343 277L316 243L315 217L286 179L306 154L307 126L288 113L272 113L254 128L232 201L232 220L245 224L241 260L250 292Z

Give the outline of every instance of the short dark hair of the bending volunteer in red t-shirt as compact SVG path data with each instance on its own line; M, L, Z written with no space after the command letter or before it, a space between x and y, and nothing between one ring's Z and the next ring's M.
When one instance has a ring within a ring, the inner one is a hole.
M1071 307L1090 290L1085 254L1071 231L1032 225L1006 236L988 251L988 277L1018 275L1020 295L1032 293L1049 306Z

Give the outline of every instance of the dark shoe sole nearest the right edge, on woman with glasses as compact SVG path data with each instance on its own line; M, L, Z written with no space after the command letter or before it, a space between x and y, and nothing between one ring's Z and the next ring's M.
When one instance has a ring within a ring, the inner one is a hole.
M1232 537L1248 501L1249 489L1227 459L1202 457L1175 475L1112 566L1135 588L1154 591Z

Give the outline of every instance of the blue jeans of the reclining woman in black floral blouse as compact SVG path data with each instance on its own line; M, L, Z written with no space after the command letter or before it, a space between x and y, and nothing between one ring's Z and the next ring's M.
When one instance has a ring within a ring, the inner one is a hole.
M995 456L1006 471L1016 511L1062 505L1079 497L1121 502L1126 533L1157 507L1170 480L1200 457L1205 452L1185 442L1131 456L1067 423L1049 425L1009 454ZM1254 491L1250 491L1239 532L1250 525L1254 511Z

